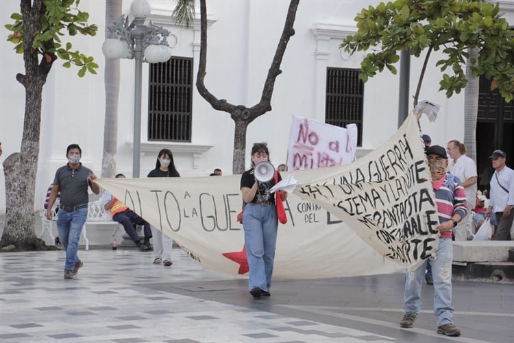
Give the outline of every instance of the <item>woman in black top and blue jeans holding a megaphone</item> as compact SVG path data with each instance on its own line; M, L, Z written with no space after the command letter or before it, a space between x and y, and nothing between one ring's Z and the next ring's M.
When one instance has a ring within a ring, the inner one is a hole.
M254 143L252 168L241 176L241 194L245 203L243 230L250 269L248 289L254 298L270 295L278 219L275 196L269 189L280 180L280 174L269 163L267 144ZM285 191L280 191L282 201L286 196Z

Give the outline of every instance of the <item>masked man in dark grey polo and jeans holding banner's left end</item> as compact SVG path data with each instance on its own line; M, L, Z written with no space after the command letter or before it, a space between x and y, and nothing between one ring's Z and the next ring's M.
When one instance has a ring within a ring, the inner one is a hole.
M97 176L80 163L82 149L77 144L70 144L66 149L68 163L56 171L48 200L47 219L52 219L52 206L60 192L60 205L57 217L57 229L60 242L66 252L64 279L73 279L79 268L84 265L77 256L82 226L88 217L88 187L98 194L100 187L95 182Z

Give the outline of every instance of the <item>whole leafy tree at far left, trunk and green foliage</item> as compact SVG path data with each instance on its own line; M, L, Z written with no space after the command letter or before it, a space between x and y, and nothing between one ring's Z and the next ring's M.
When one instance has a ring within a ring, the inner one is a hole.
M23 54L25 74L18 80L25 87L25 117L20 152L5 158L5 226L0 247L32 250L44 246L34 233L34 191L39 156L41 97L47 75L58 59L63 67L79 67L78 75L96 73L93 57L73 51L65 34L95 36L96 25L89 25L89 14L78 9L80 0L21 0L21 12L11 15L14 23L5 25L12 34L17 53Z

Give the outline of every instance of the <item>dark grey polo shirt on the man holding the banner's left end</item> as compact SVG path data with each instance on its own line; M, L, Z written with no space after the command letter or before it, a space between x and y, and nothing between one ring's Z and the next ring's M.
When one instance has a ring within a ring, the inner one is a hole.
M56 178L53 185L59 185L60 204L62 206L77 206L87 204L88 196L88 175L91 172L79 164L77 169L71 169L69 165L63 165L56 171Z

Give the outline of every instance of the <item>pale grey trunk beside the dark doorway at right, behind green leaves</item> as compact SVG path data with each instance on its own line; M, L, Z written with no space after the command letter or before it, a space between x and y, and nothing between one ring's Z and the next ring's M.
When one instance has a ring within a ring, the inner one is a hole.
M478 60L478 49L468 49L466 61L467 85L464 89L464 144L466 155L476 163L476 119L478 117L478 88L480 78L472 73L472 59Z

